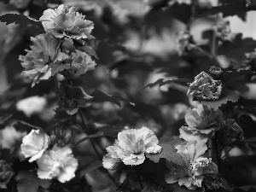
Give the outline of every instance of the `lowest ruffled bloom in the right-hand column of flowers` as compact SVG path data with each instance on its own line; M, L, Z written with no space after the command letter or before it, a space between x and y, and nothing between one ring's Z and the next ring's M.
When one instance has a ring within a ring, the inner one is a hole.
M204 177L216 177L218 166L211 158L203 156L207 150L204 142L192 142L177 145L177 153L183 158L183 166L167 162L167 167L172 171L166 175L166 183L178 183L185 185L188 189L201 188Z

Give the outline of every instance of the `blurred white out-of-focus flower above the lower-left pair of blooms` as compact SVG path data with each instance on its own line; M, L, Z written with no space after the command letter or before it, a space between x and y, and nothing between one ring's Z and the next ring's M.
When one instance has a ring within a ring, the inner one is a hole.
M30 96L16 103L16 108L26 114L26 117L31 117L33 113L40 113L44 110L47 104L43 96Z

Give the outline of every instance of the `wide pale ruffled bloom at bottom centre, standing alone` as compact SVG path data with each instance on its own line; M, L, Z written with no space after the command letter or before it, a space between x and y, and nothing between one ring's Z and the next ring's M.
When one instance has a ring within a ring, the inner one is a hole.
M107 148L108 154L103 158L106 169L114 169L117 162L127 166L137 166L143 163L146 154L160 153L158 138L147 127L119 132L118 140Z

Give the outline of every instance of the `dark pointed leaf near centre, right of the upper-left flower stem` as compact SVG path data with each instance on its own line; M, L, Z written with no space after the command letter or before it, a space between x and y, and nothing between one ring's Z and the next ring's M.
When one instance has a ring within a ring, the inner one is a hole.
M108 94L102 92L101 90L95 90L91 93L90 96L93 96L91 102L113 102L121 107L120 101L135 105L132 102L128 102L125 98L119 95L109 96Z

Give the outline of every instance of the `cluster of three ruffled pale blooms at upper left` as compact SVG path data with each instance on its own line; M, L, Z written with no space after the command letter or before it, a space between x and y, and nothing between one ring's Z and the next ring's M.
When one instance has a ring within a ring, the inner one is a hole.
M84 46L89 46L84 39L93 38L90 35L94 27L92 21L84 20L84 15L76 12L74 7L64 5L45 10L39 20L46 33L31 38L31 49L19 58L25 68L21 75L26 83L32 82L34 86L56 73L65 73L69 79L77 79L94 69L95 61L91 59L90 53L83 50ZM77 48L73 46L73 39L79 40L81 45ZM72 46L67 42L71 42Z

